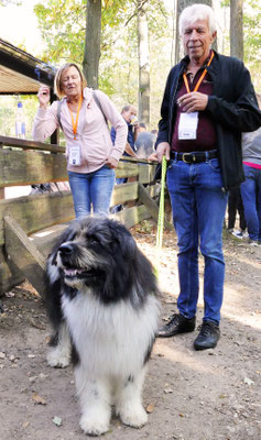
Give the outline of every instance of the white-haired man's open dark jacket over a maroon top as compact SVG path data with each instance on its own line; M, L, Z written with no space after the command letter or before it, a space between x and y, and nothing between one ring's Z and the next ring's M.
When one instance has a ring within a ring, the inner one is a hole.
M189 63L188 56L174 66L167 77L161 107L156 145L168 142L171 145L176 94L182 85L183 73ZM206 112L214 121L217 133L217 150L221 168L224 188L239 185L244 180L241 153L241 133L261 127L261 112L258 107L249 70L238 58L217 54L207 70L214 89L208 97Z

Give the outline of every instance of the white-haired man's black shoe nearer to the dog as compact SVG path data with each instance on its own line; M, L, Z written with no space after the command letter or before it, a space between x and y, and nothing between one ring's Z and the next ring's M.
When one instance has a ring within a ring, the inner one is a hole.
M157 338L171 338L178 333L195 330L196 318L187 319L183 315L174 314L171 320L157 330Z

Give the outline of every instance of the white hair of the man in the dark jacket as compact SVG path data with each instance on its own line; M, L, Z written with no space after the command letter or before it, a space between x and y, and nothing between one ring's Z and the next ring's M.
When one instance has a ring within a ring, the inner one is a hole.
M196 3L182 11L180 16L180 34L183 34L186 24L193 24L197 20L207 20L211 35L217 31L214 10L207 4Z

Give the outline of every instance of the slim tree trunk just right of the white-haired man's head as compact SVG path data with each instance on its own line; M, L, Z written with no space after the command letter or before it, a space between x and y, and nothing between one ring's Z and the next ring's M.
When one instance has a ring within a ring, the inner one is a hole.
M243 0L230 0L230 55L243 61Z

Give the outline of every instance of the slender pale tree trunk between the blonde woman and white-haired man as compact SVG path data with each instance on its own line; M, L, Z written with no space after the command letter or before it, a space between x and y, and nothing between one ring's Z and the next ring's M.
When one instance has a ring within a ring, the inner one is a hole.
M146 8L138 0L139 119L150 125L150 62Z

